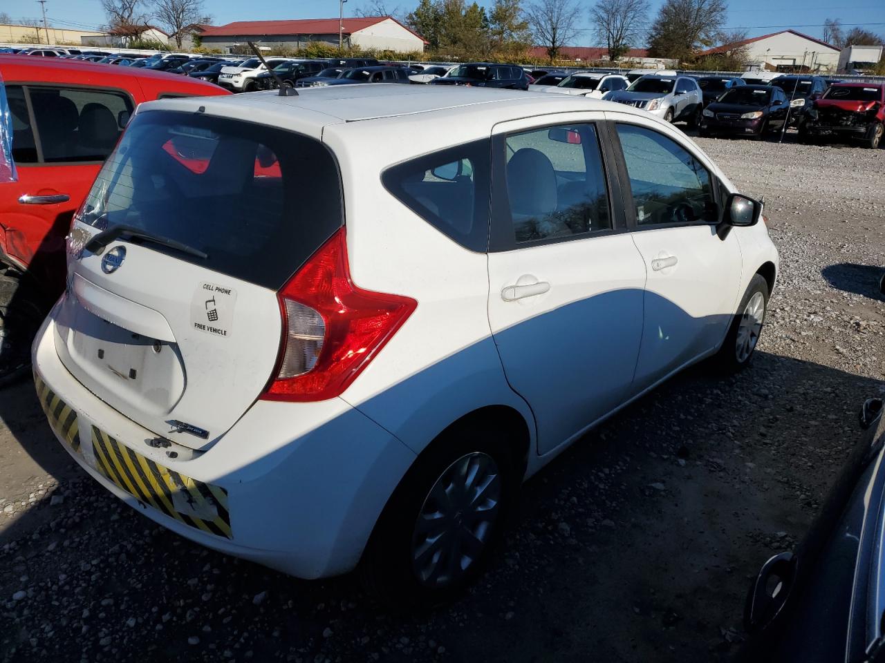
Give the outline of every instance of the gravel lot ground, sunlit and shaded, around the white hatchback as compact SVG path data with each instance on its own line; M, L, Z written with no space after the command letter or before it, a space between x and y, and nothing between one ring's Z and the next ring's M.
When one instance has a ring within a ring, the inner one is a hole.
M698 139L765 195L782 272L756 360L689 370L529 482L483 581L391 614L122 506L0 394L0 660L727 660L749 578L794 545L882 390L885 150Z

